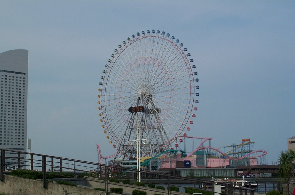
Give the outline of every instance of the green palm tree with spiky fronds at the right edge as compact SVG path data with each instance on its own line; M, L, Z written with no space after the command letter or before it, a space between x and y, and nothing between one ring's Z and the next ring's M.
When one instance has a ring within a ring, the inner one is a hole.
M278 157L278 175L283 182L289 182L292 170L294 169L293 162L295 160L295 151L294 150L284 150L281 151L280 156Z

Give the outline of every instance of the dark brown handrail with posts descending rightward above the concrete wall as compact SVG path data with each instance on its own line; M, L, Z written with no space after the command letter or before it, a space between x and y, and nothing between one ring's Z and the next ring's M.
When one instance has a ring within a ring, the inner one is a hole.
M94 162L87 162L83 160L77 160L77 159L71 159L71 158L63 158L63 157L56 157L56 156L49 156L44 154L35 154L35 153L28 153L28 152L22 152L22 151L15 151L15 150L6 150L6 149L0 149L0 167L1 167L1 174L0 174L0 180L4 182L4 171L5 168L9 169L26 169L26 167L29 167L28 170L32 171L42 171L43 173L43 187L47 187L47 181L46 181L46 173L47 172L74 172L74 174L78 174L79 172L83 173L89 173L94 174L97 178L104 178L105 181L105 190L106 193L108 192L108 178L109 176L112 177L120 177L120 174L116 173L123 173L126 170L129 171L135 171L140 172L140 174L143 176L142 179L148 179L148 182L153 181L152 179L163 179L163 183L168 186L176 185L178 181L187 183L187 184L199 184L200 186L203 186L202 184L206 184L206 186L213 186L213 184L218 185L224 185L226 186L227 194L231 194L235 190L239 190L245 193L247 195L247 192L250 192L250 195L253 195L253 189L248 189L245 187L234 187L232 184L223 184L223 183L216 183L212 181L206 181L204 179L196 179L192 177L183 177L183 176L176 176L171 175L170 173L159 173L159 172L150 172L145 170L137 170L137 169L130 169L130 168L124 168L124 167L116 167L112 165L106 165L106 164L99 164ZM172 151L172 150L171 150ZM173 150L174 152L175 150ZM17 158L11 158L8 155L5 155L5 152L13 152L17 153ZM21 154L28 154L29 159L27 158L21 158ZM16 167L10 167L9 164L5 164L5 161L14 161ZM27 165L27 163L31 163L30 165ZM35 168L35 170L33 170ZM41 170L42 169L42 170ZM89 170L90 169L90 170ZM54 173L53 173L54 174ZM121 179L134 179L134 175L130 174L130 178L128 178L126 175L124 177L120 177ZM168 182L168 183L167 183ZM155 180L155 183L160 184L158 180ZM170 188L169 188L170 189ZM203 190L203 189L201 189ZM213 189L212 189L213 191ZM168 191L169 192L169 191ZM171 191L169 192L171 193ZM241 193L240 193L241 194Z

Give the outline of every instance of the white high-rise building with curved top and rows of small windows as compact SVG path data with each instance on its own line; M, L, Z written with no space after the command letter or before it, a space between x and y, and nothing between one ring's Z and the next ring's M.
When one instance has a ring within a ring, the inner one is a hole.
M27 151L28 50L16 49L0 53L1 107L0 148ZM6 152L17 158L17 153ZM26 155L22 154L24 159ZM7 168L17 161L6 159ZM21 166L26 165L21 162Z

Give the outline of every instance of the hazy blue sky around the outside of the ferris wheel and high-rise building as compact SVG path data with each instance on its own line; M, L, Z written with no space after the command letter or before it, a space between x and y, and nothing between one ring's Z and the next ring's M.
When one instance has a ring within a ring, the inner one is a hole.
M102 70L118 44L152 29L178 38L197 66L188 135L215 148L250 138L276 162L295 136L295 1L0 0L0 53L29 50L32 152L90 162L96 144L115 153L98 117Z

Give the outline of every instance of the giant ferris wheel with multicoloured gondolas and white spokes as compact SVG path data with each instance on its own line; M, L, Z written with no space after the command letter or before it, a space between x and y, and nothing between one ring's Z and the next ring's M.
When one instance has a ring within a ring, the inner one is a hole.
M193 124L191 117L196 117L199 96L190 56L183 43L159 30L132 35L111 54L97 103L101 128L117 149L115 159L135 156L131 141L136 139L137 123L142 156L155 156L182 142ZM133 111L128 112L130 107Z

